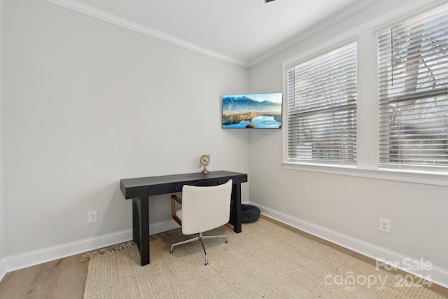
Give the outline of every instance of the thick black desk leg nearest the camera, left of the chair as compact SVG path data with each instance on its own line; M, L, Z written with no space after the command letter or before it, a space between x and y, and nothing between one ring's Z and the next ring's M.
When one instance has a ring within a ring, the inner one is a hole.
M149 200L132 199L132 235L137 243L142 266L149 263Z

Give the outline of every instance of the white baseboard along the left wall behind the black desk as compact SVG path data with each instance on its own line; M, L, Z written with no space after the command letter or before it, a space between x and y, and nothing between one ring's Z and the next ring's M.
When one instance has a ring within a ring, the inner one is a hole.
M149 229L151 231L151 235L153 235L159 232L172 230L173 228L179 228L179 225L176 223L176 221L170 220L151 224ZM35 251L19 253L13 256L6 256L5 258L2 258L0 260L0 280L3 279L6 273L10 271L23 269L25 267L46 263L50 260L57 260L58 258L73 256L78 253L92 251L130 240L132 240L132 230L121 230L120 232L113 232L107 235L100 235L97 237L82 239L76 242L70 242L44 249L38 249Z

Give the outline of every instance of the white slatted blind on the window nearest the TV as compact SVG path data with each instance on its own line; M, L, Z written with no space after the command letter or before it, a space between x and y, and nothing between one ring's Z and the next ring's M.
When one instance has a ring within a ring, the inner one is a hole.
M288 160L356 164L356 43L286 75Z

